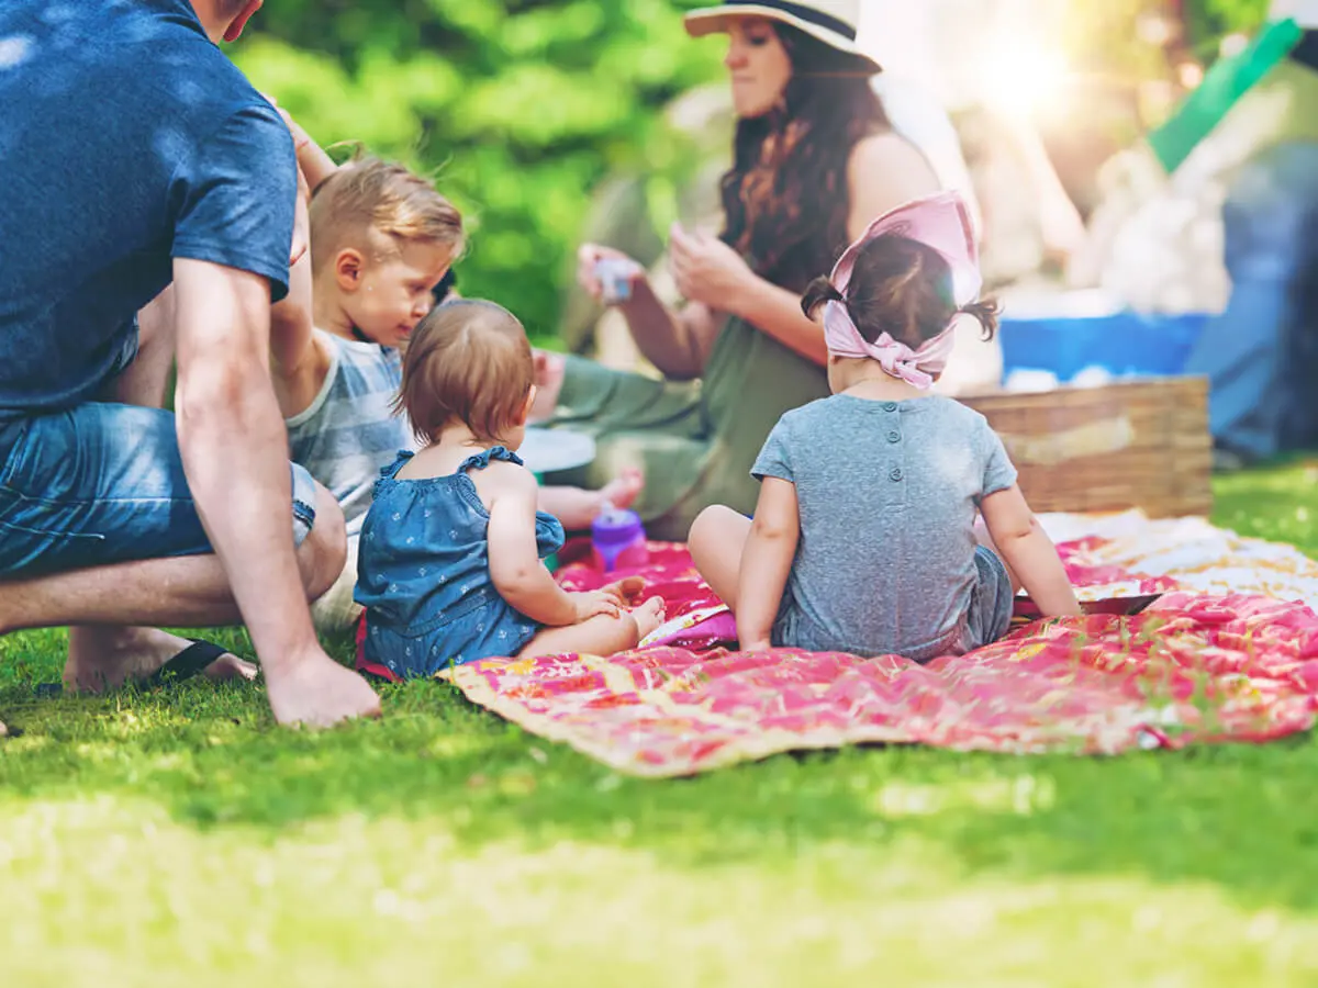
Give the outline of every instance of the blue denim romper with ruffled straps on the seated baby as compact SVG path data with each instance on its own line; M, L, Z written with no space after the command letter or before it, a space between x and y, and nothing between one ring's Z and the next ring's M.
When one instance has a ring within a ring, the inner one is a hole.
M357 603L366 609L368 661L403 678L430 677L449 665L515 656L540 624L514 610L490 578L489 512L468 470L490 460L522 461L503 447L469 457L448 477L398 480L413 454L376 481L361 528ZM563 526L535 515L540 559L563 548Z

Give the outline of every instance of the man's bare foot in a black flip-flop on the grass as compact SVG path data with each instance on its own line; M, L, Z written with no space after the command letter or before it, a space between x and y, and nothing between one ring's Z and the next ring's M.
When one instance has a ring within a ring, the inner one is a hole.
M104 693L140 682L191 643L157 628L99 624L69 630L65 689ZM257 668L236 655L221 655L202 673L212 680L254 680Z

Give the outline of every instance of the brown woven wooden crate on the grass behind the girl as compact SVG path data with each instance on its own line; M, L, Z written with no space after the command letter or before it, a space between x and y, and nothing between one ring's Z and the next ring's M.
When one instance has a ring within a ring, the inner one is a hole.
M1174 518L1213 508L1206 378L995 391L960 400L1002 436L1035 511L1139 507L1151 518Z

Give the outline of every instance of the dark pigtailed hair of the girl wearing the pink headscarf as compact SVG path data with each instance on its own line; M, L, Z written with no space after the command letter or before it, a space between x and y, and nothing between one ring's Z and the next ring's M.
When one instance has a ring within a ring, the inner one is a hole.
M828 278L816 278L801 298L801 311L813 317L825 302L846 306L866 343L884 332L912 350L941 333L961 312L974 316L991 340L998 328L992 299L958 307L952 290L952 267L928 244L887 233L857 254L846 296Z

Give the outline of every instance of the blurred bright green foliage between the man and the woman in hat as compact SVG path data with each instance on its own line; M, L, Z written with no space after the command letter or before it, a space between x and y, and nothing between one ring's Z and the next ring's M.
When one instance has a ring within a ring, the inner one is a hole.
M692 4L687 4L691 7ZM326 145L426 174L473 236L463 291L556 332L589 192L614 170L680 180L660 109L718 72L670 0L279 0L233 49Z

